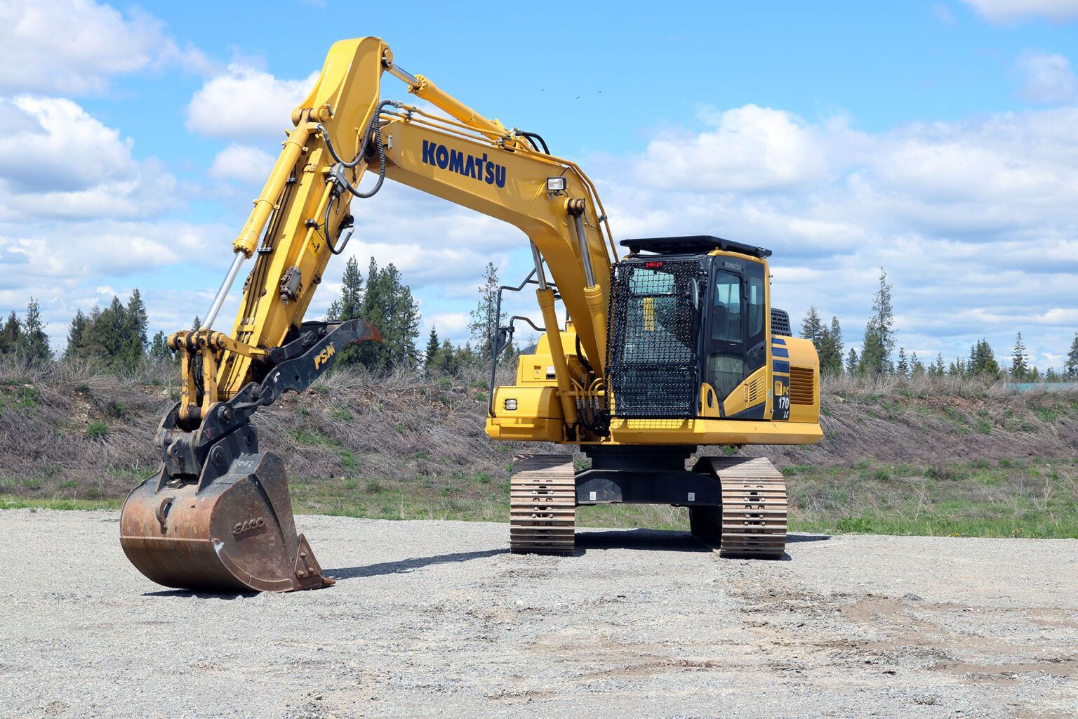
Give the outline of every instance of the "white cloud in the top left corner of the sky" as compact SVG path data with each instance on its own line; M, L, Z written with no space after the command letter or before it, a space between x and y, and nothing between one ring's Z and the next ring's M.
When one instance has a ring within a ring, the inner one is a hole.
M208 67L202 53L180 49L163 28L143 12L125 17L92 0L6 0L0 3L0 89L99 93L122 73L165 64Z

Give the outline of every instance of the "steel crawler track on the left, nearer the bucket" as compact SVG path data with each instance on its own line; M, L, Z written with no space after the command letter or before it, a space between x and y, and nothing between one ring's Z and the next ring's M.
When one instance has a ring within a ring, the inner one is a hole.
M572 457L513 457L509 548L514 553L572 554L577 484Z

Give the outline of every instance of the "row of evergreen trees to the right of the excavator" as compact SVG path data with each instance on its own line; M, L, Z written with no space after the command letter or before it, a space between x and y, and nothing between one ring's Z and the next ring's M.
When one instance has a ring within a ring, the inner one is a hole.
M1014 338L1010 367L1007 368L1000 367L992 346L984 338L970 346L967 357L956 358L950 363L944 362L942 352L937 352L935 360L926 362L915 351L907 355L904 347L899 347L898 355L895 356L895 309L892 286L883 267L880 268L880 286L872 298L872 315L865 327L860 355L853 347L848 350L843 348L839 318L832 317L830 324L826 324L815 307L810 307L801 320L800 334L815 345L820 372L826 375L894 375L902 378L948 375L1008 378L1012 382L1078 381L1078 332L1075 332L1062 372L1049 369L1041 374L1040 370L1032 367L1021 332Z

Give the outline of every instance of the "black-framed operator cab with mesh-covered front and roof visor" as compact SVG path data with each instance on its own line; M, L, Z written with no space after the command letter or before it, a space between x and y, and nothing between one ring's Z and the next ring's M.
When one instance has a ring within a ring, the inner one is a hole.
M771 250L707 235L621 245L630 254L614 268L612 290L614 416L765 418L762 401L738 402L733 414L723 406L768 364L769 330L789 334L786 314L769 312ZM773 418L787 418L774 410Z

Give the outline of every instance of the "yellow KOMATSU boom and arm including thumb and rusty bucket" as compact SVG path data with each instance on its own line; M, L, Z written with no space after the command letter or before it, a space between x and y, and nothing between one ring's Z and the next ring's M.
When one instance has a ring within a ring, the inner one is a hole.
M383 98L386 73L446 114ZM385 178L523 231L569 430L581 400L594 404L603 392L617 252L595 186L576 164L404 71L377 38L335 43L292 123L203 327L169 337L180 356L180 402L157 432L161 471L130 494L121 516L128 558L169 586L290 591L331 583L295 535L281 461L259 453L249 420L281 391L302 391L332 368L344 344L379 338L359 320L303 318L330 258L345 250L353 213L365 209L357 202ZM361 189L367 172L376 179ZM232 332L215 331L246 262L253 264ZM572 372L556 296L589 360Z

